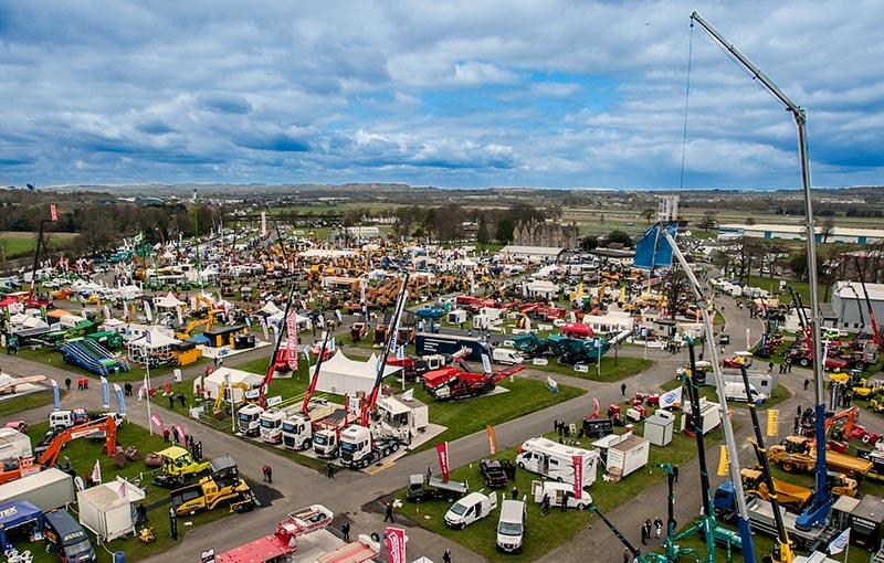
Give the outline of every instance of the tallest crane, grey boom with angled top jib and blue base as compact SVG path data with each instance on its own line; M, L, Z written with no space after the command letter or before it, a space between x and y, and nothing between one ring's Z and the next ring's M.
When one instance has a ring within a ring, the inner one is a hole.
M804 220L806 220L806 236L808 244L808 282L810 284L810 315L812 327L812 346L809 348L811 354L814 354L817 361L813 363L813 382L814 382L814 411L817 415L817 464L815 464L815 489L813 501L811 506L801 513L798 518L798 527L802 530L809 530L814 524L824 522L829 518L831 510L830 495L827 489L825 482L825 431L823 428L823 421L825 419L825 394L823 392L823 361L821 357L822 347L820 346L822 338L820 333L820 296L817 286L817 230L813 222L813 203L811 201L811 185L810 185L810 158L808 156L808 139L807 139L807 110L792 102L774 82L761 72L758 66L749 61L737 47L729 43L718 31L712 26L699 13L693 12L691 14L691 25L694 22L699 24L706 33L726 52L730 53L734 59L748 71L755 79L757 79L774 97L776 97L787 110L792 115L796 127L798 128L798 153L801 166L801 185L804 194ZM669 237L669 236L667 236ZM715 347L713 352L715 351ZM717 362L715 362L717 363ZM736 454L736 452L735 452ZM738 480L739 476L732 476L734 480ZM735 486L737 484L735 482ZM743 495L740 487L740 496ZM741 499L738 499L741 500ZM745 502L744 502L745 504ZM745 513L745 511L744 511ZM748 524L748 523L747 523ZM748 525L747 525L748 528ZM748 531L748 530L747 530ZM745 551L745 550L744 550ZM748 560L747 560L748 561Z

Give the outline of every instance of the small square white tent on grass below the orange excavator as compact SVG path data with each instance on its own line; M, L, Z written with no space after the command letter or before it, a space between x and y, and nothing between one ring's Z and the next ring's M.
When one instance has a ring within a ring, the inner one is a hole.
M145 499L145 491L122 477L76 493L80 523L102 541L135 533L133 502Z

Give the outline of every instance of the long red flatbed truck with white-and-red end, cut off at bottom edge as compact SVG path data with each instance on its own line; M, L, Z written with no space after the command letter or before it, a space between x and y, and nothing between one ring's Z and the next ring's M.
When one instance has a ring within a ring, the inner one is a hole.
M327 528L335 514L322 504L290 512L272 534L215 555L215 563L270 563L288 559L297 551L298 538Z

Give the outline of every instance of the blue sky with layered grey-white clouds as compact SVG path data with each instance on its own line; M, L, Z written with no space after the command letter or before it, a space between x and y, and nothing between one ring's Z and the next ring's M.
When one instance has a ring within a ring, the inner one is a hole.
M698 9L882 183L884 2L0 2L0 183L673 188ZM701 30L684 185L799 184L783 108Z

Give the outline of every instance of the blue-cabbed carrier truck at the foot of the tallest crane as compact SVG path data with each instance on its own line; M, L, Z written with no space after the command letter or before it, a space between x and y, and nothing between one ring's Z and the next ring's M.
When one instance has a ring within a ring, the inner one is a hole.
M725 481L715 489L713 506L715 507L716 516L723 521L729 522L735 519L736 506L733 482ZM777 538L774 509L770 502L758 497L751 497L746 502L746 509L749 513L753 531L760 531ZM800 550L813 551L817 545L828 545L836 533L833 528L823 528L819 524L810 530L802 531L796 525L797 514L786 511L782 507L780 507L780 513L782 514L782 523L786 531L789 533L789 540Z

